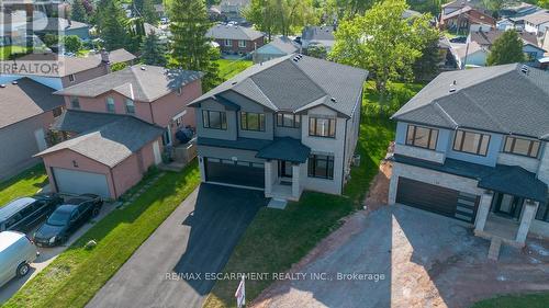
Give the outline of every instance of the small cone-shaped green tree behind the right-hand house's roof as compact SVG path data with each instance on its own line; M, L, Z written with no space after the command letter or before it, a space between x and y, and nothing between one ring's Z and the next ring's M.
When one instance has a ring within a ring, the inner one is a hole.
M525 60L523 52L523 39L514 30L505 31L497 37L490 49L486 64L489 66L522 62Z

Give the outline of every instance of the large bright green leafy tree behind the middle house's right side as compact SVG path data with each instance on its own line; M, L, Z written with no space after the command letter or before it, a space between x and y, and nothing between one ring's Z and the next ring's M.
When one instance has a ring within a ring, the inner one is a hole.
M404 0L376 3L363 16L340 23L328 57L335 61L368 69L383 95L386 83L412 79L413 65L422 56L430 27L428 15L402 19Z

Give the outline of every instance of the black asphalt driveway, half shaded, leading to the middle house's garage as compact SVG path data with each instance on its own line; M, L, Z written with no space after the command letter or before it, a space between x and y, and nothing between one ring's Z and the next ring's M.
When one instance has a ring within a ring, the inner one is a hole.
M204 280L204 274L223 270L238 239L266 204L259 191L202 184L87 307L201 307L214 284ZM167 278L176 273L188 278Z

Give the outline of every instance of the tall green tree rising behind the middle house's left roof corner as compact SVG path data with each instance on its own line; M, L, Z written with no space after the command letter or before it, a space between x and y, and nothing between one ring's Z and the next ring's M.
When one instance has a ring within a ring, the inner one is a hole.
M203 0L173 0L171 3L172 50L170 66L204 72L202 87L209 90L219 83L217 64L211 59L212 26Z

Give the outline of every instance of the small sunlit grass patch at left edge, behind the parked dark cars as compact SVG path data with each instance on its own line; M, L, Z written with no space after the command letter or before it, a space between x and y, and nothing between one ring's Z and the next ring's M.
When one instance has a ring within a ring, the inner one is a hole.
M36 164L0 183L0 207L11 199L35 194L47 184L44 164Z

